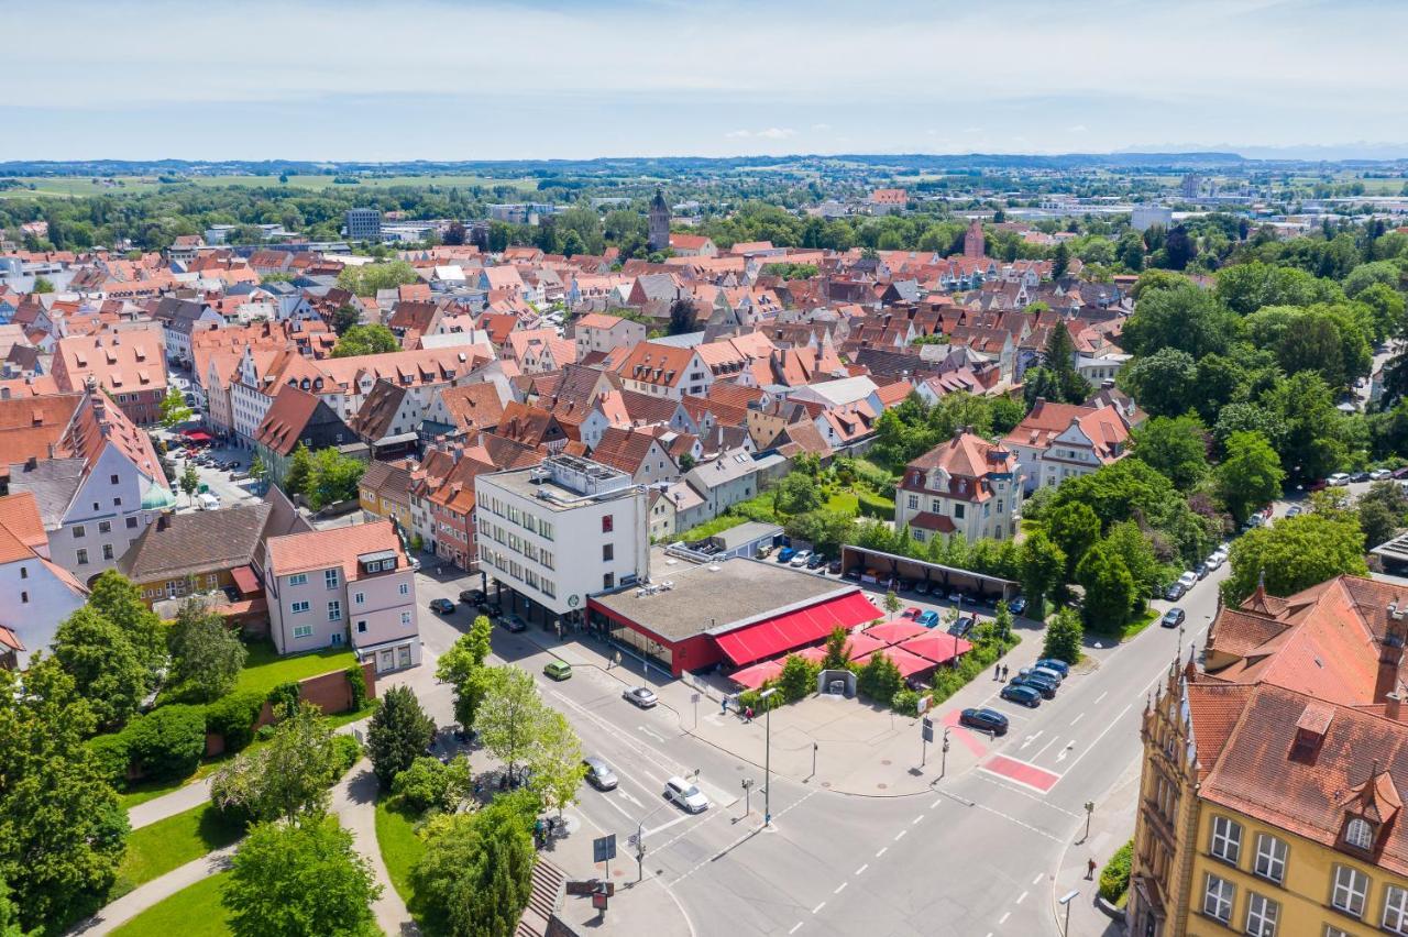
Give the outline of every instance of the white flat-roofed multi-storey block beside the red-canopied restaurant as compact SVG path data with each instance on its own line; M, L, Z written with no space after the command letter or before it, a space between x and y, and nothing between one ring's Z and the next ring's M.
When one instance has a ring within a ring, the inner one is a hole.
M505 606L545 626L583 620L587 598L649 574L646 490L589 459L474 478L480 571Z

